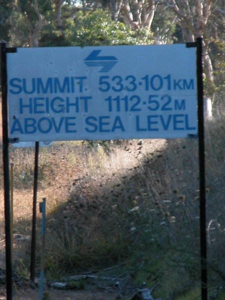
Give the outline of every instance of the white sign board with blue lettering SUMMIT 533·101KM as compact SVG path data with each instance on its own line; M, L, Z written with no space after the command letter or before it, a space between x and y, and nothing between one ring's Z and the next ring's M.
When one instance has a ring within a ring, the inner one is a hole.
M17 48L7 54L17 141L179 138L197 133L195 48Z

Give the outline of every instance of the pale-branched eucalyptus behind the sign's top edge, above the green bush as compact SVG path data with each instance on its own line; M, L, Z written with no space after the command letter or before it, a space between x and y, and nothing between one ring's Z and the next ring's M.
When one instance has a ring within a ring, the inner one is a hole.
M112 19L123 22L131 30L144 29L156 43L172 41L175 29L174 14L156 0L81 1L82 7L107 8ZM151 34L152 33L152 34Z

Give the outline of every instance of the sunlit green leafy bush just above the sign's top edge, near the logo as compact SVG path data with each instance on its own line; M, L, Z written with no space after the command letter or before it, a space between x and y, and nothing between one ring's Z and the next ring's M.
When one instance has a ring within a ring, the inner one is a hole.
M40 38L41 46L90 46L118 44L149 44L150 35L145 29L131 30L121 22L112 21L108 12L77 11L68 17L69 7L63 7L63 30L57 30L52 23L45 26Z

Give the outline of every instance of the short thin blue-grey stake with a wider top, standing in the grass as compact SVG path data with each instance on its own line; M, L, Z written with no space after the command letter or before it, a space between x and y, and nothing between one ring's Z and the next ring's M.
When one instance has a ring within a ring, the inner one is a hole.
M44 287L44 240L45 240L45 202L46 198L40 203L40 212L42 213L41 222L41 265L40 265L40 300L43 299Z

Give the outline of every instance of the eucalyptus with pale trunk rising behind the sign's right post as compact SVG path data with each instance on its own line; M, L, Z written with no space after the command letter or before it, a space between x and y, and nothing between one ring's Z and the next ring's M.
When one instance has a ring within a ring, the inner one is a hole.
M213 37L217 34L218 23L224 29L224 1L222 0L167 0L164 5L170 8L181 29L183 41L194 41L203 37L203 64L207 93L214 95L213 53L210 50ZM223 22L223 25L221 24Z

